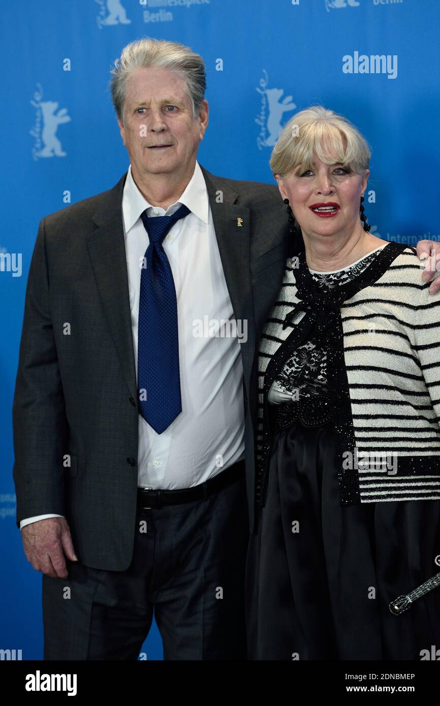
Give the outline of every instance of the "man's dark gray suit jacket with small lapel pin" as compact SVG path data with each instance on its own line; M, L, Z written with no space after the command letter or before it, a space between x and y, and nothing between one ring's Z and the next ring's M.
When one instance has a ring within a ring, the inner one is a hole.
M241 351L252 530L255 347L296 248L275 185L202 171L234 315L248 322ZM107 570L131 562L138 479L125 179L41 220L13 400L18 526L33 515L65 515L80 561ZM64 335L67 327L71 335Z

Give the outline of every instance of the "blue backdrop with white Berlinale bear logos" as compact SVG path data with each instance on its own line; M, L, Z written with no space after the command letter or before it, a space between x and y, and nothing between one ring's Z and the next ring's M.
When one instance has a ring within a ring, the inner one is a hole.
M296 109L347 116L373 155L371 232L440 238L439 0L34 0L1 3L2 436L0 649L42 658L41 575L16 527L11 406L25 285L44 215L109 189L129 161L107 81L133 39L188 44L206 60L213 174L273 182L270 150ZM144 658L162 659L153 628Z

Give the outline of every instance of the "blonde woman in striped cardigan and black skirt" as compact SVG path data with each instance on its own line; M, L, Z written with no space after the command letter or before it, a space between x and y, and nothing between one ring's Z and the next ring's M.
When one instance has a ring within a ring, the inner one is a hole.
M369 232L369 158L350 121L311 107L270 159L304 251L257 356L250 659L440 645L440 588L411 594L440 570L440 298L415 249Z

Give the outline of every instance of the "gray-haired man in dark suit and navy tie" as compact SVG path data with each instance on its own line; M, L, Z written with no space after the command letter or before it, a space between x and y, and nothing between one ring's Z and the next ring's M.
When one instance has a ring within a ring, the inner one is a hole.
M136 659L153 609L165 659L246 658L251 369L298 243L275 185L198 164L205 88L188 47L125 47L129 170L40 222L13 429L45 659Z

